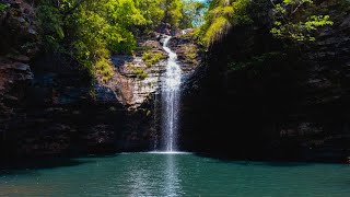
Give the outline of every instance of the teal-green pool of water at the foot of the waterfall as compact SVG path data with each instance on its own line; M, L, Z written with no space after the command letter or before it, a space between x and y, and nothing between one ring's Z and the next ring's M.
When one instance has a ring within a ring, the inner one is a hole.
M55 161L40 169L2 170L0 196L348 197L350 165L125 153Z

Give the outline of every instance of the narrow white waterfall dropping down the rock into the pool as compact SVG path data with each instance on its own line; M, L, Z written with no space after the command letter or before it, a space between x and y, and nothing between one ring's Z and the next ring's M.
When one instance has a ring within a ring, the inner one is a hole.
M182 70L176 62L177 55L167 47L171 38L171 36L166 36L163 43L163 48L168 54L165 79L162 85L162 134L167 152L177 150L176 137L182 81Z

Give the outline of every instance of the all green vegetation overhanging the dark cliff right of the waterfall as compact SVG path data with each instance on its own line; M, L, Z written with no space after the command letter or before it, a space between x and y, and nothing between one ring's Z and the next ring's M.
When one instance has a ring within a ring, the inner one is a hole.
M332 25L330 15L323 13L325 7L329 4L314 3L312 0L213 0L210 1L206 23L197 36L209 46L225 36L232 27L253 24L255 12L265 8L265 12L272 10L273 13L270 30L273 36L295 42L313 42L313 33Z

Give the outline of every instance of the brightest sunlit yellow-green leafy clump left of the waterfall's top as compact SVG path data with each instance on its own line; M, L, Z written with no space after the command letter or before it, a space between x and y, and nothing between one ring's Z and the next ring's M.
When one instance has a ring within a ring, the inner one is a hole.
M102 81L113 76L110 54L131 54L136 45L132 27L145 23L132 0L86 0L72 20L75 57L88 68L92 65Z

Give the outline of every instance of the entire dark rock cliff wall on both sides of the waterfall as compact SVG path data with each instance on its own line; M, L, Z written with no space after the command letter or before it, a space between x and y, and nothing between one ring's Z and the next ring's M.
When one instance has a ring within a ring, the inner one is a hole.
M135 56L112 56L113 79L91 83L77 62L38 55L33 9L7 2L0 13L0 161L156 147L166 65L159 34L140 39ZM307 46L287 49L272 38L268 11L253 26L230 31L206 62L190 37L171 39L185 74L182 149L235 159L349 157L350 10L329 12L335 24ZM144 53L163 57L148 65Z

